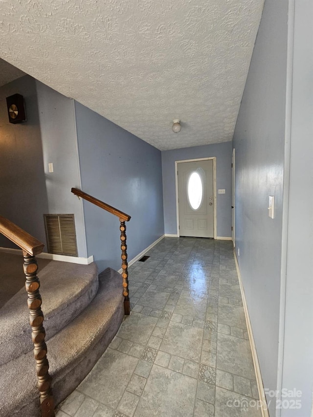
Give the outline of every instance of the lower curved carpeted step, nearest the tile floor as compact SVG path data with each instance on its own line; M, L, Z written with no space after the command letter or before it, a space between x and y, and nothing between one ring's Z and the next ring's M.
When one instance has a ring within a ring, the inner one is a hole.
M47 342L55 405L90 372L124 317L121 275L107 268L89 306ZM0 417L40 416L35 360L30 351L0 367Z

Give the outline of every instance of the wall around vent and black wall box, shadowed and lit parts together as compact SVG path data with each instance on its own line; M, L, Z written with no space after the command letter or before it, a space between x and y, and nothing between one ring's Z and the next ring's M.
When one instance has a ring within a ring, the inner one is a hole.
M27 121L9 123L5 97L24 97ZM44 214L73 213L78 256L86 257L73 100L25 75L0 88L0 214L45 243ZM54 172L48 172L52 162ZM0 246L17 248L0 235Z

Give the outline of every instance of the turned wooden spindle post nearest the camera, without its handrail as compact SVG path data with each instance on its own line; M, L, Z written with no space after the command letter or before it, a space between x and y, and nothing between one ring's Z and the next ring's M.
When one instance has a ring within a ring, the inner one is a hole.
M40 282L37 277L38 265L34 256L23 251L24 273L26 276L26 291L28 294L28 308L30 326L32 328L32 341L36 359L36 372L42 417L54 417L54 400L51 390L51 376L48 373L49 363L46 357L45 328L43 326L44 314L41 309L42 299L39 293Z

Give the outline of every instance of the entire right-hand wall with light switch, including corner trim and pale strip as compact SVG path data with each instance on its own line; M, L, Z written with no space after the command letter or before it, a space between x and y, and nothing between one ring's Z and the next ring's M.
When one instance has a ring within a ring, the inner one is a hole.
M312 86L312 1L266 0L233 145L236 252L264 387L302 391L301 410L268 397L270 417L312 408Z

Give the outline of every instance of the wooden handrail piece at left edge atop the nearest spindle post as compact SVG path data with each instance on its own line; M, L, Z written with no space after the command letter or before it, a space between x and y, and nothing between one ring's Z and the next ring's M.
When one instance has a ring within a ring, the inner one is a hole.
M2 216L0 216L0 233L32 256L42 253L45 246L44 243Z

